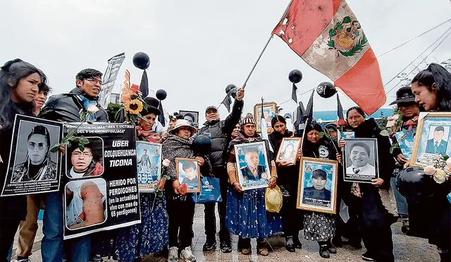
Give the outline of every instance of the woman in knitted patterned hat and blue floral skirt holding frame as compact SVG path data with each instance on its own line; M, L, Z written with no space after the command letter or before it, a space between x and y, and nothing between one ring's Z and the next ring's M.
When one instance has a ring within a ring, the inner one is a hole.
M252 114L242 119L241 131L230 142L227 172L230 186L227 191L226 226L230 233L237 234L238 251L243 255L251 254L251 239L257 238L257 252L261 256L268 256L266 238L280 232L280 218L271 215L265 208L265 189L243 190L238 179L235 145L262 141L256 132ZM269 162L269 161L268 161ZM271 161L271 178L269 188L274 188L277 181L275 162ZM251 222L252 221L252 222Z

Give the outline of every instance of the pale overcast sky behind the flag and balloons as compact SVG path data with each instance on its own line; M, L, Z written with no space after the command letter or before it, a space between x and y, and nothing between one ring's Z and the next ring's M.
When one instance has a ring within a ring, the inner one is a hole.
M228 84L244 83L289 1L1 1L0 63L24 59L47 74L54 93L66 93L75 87L78 71L94 68L103 73L111 56L125 52L126 59L114 88L118 93L125 69L130 70L132 82L140 84L142 71L133 66L132 56L146 52L151 58L147 71L149 87L168 93L164 109L199 111L202 123L204 109L221 102ZM451 18L449 0L347 2L376 56ZM379 64L383 82L387 83L450 27L451 23L446 23L382 56ZM441 62L450 57L451 37L448 37L426 62ZM424 69L426 64L419 67ZM303 73L299 94L330 81L276 36L247 83L244 113L252 112L262 96L266 102L290 99L288 73L292 69ZM395 99L395 90L388 94L386 105ZM309 94L299 98L307 104ZM340 98L345 109L354 105L342 93ZM295 102L282 107L292 112ZM314 109L335 110L335 99L325 100L316 95ZM220 112L226 117L224 107Z

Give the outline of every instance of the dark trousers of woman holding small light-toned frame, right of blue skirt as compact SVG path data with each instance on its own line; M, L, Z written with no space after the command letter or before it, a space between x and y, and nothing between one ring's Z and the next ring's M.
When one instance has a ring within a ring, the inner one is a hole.
M296 197L290 195L283 198L280 216L282 217L282 231L285 237L298 237L299 230L304 226L304 213L296 208Z

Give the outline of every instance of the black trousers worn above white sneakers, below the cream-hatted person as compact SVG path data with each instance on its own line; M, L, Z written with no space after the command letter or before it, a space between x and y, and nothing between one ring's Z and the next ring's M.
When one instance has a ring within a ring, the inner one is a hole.
M178 237L180 236L180 248L185 249L191 246L192 236L192 215L194 213L194 203L192 202L191 194L187 193L180 200L174 199L173 195L167 197L166 207L168 209L168 237L169 247L179 246Z

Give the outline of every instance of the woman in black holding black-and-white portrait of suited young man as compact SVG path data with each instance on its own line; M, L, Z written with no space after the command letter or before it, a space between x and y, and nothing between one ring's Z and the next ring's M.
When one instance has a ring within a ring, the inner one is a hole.
M390 140L374 119L366 119L360 107L351 107L346 113L347 123L355 138L376 138L378 148L379 177L370 183L352 183L350 213L357 215L359 230L366 247L362 255L365 261L395 261L390 225L397 220L385 209L379 194L380 189L390 188L395 160L390 154ZM341 139L340 148L346 141Z

